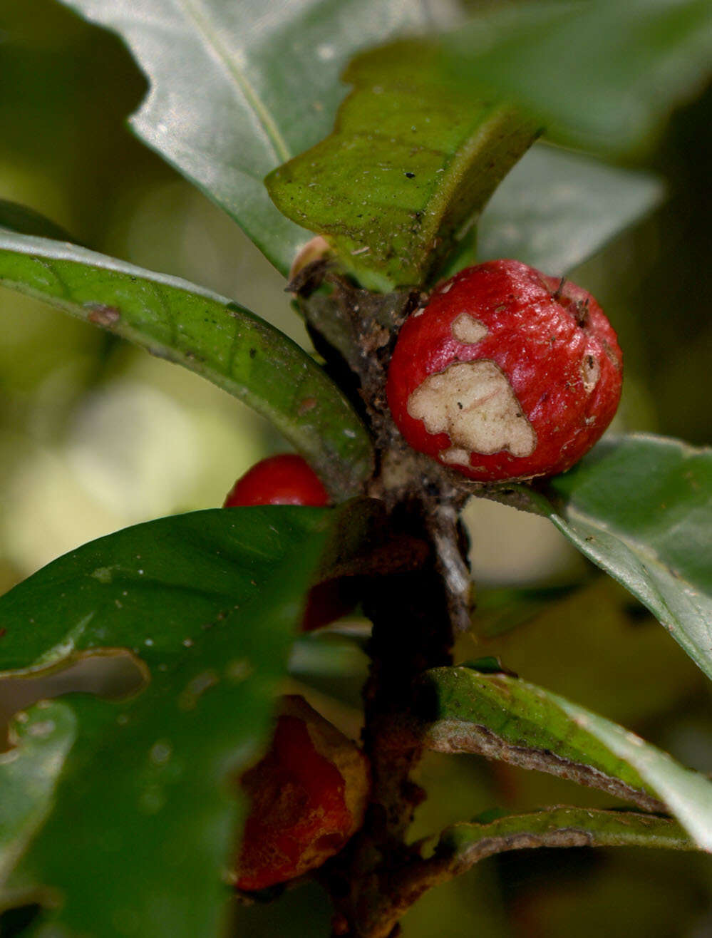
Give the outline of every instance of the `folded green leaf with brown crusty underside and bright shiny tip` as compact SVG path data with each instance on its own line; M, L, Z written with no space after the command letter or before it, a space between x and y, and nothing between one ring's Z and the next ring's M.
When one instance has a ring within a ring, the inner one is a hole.
M712 782L609 720L519 678L462 667L427 672L422 703L430 748L478 752L655 809L652 793L712 852Z

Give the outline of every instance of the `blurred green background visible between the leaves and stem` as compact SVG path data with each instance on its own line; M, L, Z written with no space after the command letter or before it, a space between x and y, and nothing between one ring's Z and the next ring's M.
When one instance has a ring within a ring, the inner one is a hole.
M234 297L308 345L280 276L130 134L126 118L145 83L118 39L53 0L0 0L0 81L0 198L32 206L94 250ZM666 178L668 201L572 275L598 297L625 351L615 427L696 444L712 429L711 112L707 93L674 115L635 164ZM284 446L196 375L30 299L2 291L0 300L0 592L86 540L220 505L235 477ZM483 613L480 642L463 640L460 658L500 654L528 679L709 769L703 679L642 607L548 522L488 502L468 507L467 521ZM525 606L520 628L482 637L504 628L488 602L551 584L574 588ZM326 716L357 732L365 658L353 645L304 639L293 670ZM432 796L414 836L492 805L609 803L468 757L433 755L420 775ZM696 855L536 851L489 860L436 890L404 927L414 938L704 938L711 894L709 864ZM327 933L329 912L307 886L235 916L240 935L308 936Z

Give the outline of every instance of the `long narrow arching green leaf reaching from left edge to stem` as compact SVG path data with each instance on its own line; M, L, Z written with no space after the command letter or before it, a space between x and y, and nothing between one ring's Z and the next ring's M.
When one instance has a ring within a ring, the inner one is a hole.
M185 280L72 245L0 233L0 283L196 371L267 417L334 498L360 491L371 442L351 404L295 342Z

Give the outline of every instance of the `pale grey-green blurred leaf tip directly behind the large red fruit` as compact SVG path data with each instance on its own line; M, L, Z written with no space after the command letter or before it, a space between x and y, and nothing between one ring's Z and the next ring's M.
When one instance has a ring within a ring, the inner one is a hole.
M663 191L653 175L535 145L485 209L477 226L477 260L514 257L563 275L652 211ZM474 253L462 258L458 269L474 260Z

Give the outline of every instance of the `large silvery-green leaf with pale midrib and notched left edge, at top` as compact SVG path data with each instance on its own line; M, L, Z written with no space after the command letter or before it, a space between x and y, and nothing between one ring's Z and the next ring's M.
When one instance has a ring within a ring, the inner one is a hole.
M305 233L263 178L331 129L357 50L432 27L424 0L63 0L114 29L150 83L131 126L286 275Z

